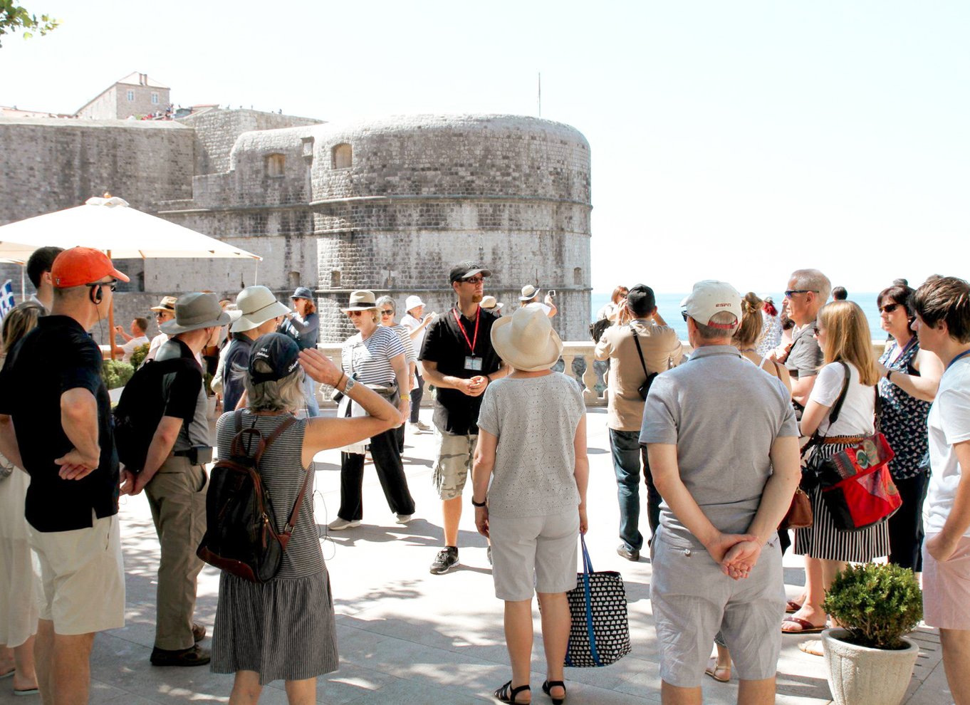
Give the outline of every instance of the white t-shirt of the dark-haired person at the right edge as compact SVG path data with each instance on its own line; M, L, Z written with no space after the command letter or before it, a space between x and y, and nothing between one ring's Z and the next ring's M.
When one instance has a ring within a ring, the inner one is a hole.
M954 506L962 468L954 445L970 440L970 357L957 360L943 373L936 400L926 419L929 435L929 490L923 504L926 533L939 533ZM970 536L968 529L964 536Z

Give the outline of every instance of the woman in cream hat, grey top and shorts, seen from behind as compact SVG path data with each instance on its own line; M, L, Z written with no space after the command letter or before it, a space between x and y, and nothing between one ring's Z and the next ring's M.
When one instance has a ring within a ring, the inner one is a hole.
M495 696L520 702L530 689L534 585L548 664L542 690L562 703L566 591L576 586L576 538L587 529L586 407L575 380L551 369L563 342L540 308L499 319L492 344L514 371L482 399L471 501L475 526L492 541L496 596L505 600L512 678Z

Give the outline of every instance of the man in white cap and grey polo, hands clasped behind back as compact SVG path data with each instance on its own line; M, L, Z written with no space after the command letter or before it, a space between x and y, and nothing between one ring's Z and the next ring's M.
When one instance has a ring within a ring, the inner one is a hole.
M730 344L741 296L701 281L684 300L691 360L658 376L643 414L663 497L650 546L650 599L664 703L699 703L720 630L741 679L738 701L774 702L785 612L776 528L799 478L788 391Z

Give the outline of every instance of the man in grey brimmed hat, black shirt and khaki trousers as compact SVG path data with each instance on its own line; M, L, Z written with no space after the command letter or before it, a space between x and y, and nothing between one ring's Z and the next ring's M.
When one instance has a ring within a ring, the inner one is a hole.
M155 666L210 661L209 650L196 643L206 629L192 622L196 579L203 566L195 551L206 531L206 464L212 457L203 370L196 356L218 339L227 323L229 314L214 294L178 298L175 320L161 325L162 333L172 337L150 364L178 360L180 365L162 377L158 394L165 410L148 446L145 468L137 475L127 469L123 473L123 491L137 495L145 489L162 549L150 658Z

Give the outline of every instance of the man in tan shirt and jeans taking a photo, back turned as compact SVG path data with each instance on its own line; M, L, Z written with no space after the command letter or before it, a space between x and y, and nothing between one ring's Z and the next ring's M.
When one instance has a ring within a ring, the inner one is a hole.
M654 488L646 448L638 440L643 422L647 379L678 365L684 355L677 332L657 311L654 290L637 284L617 309L617 322L606 329L596 348L597 360L609 360L607 409L613 469L620 501L620 539L616 552L639 561L640 465L647 486L647 520L651 535L660 521L661 496Z

